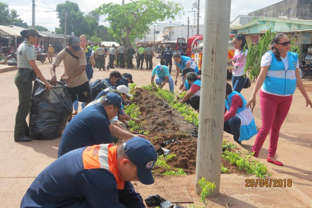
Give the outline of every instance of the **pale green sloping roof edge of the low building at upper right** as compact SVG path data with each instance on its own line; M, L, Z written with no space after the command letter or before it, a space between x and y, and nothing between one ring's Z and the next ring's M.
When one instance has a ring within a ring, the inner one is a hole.
M286 22L286 23L294 23L294 24L312 25L312 20L287 19L287 18L276 18L276 17L258 17L244 25L231 27L231 29L238 30L238 29L250 27L252 25L258 24L259 21L274 21L274 22Z

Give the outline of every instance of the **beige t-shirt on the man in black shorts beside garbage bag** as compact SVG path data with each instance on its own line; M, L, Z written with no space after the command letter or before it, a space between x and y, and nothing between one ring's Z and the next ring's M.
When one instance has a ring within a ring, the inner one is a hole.
M63 49L61 52L59 52L59 54L57 54L55 61L53 62L53 65L58 67L60 63L64 60L65 74L66 76L71 76L73 73L79 70L80 66L87 65L85 50L82 48L80 49L81 49L80 51L73 52L73 54L79 57L79 59L72 57L69 53L65 51L65 49ZM71 82L67 84L67 87L77 87L85 82L88 82L88 78L87 74L84 71L77 77L72 78Z

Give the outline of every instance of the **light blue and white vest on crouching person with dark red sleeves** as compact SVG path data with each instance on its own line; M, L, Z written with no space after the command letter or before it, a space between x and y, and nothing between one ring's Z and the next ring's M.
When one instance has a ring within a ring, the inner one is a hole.
M250 108L247 109L245 107L247 104L247 101L241 95L241 93L238 93L236 91L233 91L230 95L227 96L228 99L225 99L225 107L227 108L227 111L230 111L230 107L232 105L232 97L234 95L239 95L241 97L241 100L243 101L243 107L237 108L237 111L235 114L235 116L241 119L239 141L249 140L251 137L253 137L254 135L258 133L256 122L252 115L251 109Z

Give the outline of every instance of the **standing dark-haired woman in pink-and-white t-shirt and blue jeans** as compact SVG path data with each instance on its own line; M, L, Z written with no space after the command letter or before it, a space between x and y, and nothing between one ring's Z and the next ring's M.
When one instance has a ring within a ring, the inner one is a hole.
M245 66L247 61L247 53L248 47L246 45L246 38L243 34L238 34L233 38L233 46L236 51L234 52L233 57L233 66L234 69L232 71L232 86L233 91L241 92L243 87L246 84L247 77L244 77L245 74ZM246 51L244 52L244 46L246 45Z

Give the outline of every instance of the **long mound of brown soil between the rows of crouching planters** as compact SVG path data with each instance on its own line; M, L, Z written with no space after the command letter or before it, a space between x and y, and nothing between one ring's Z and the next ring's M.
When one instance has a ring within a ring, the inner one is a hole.
M184 117L175 109L168 109L161 104L164 101L152 94L152 92L136 88L132 102L139 107L141 114L141 127L149 131L148 139L158 149L162 142L176 139L176 143L169 143L164 148L170 150L170 154L175 154L167 164L176 168L183 168L188 174L195 174L197 138L191 136L191 132L197 129L192 123L184 120ZM165 102L165 101L164 101ZM232 166L230 162L222 159L224 167L228 168L228 173L243 173L237 166ZM159 168L157 174L164 173L165 170Z

